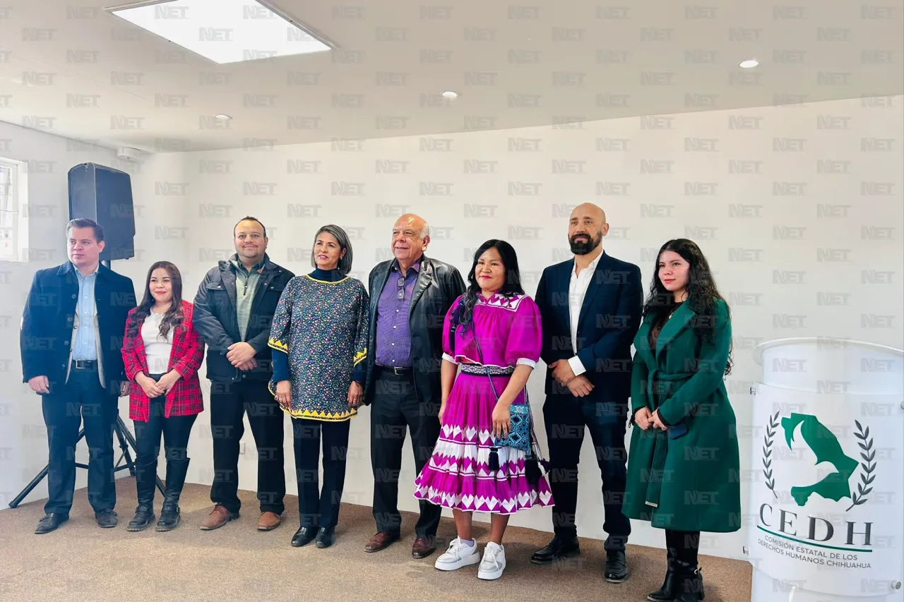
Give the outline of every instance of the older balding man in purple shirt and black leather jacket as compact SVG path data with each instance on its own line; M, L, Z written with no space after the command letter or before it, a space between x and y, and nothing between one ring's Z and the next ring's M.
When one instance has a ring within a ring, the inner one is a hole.
M399 471L405 428L411 433L418 473L439 437L442 398L443 320L465 292L457 268L424 255L430 243L427 222L402 215L392 228L392 254L371 270L370 340L364 404L372 406L371 464L373 518L377 533L365 551L383 550L400 537ZM436 550L442 509L421 500L411 547L414 558Z

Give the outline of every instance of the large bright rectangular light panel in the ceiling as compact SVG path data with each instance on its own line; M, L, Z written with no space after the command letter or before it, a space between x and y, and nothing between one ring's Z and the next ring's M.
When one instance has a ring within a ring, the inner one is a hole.
M257 0L143 0L107 10L221 64L330 50Z

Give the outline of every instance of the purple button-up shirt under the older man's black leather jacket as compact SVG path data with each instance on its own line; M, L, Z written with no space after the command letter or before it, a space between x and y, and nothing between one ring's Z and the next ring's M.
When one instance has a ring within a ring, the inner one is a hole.
M399 260L392 262L390 276L386 279L380 298L377 300L377 337L374 361L378 366L388 368L411 367L411 330L408 324L411 295L418 281L420 259L408 269L404 277L399 269ZM403 285L400 286L400 279ZM404 291L399 298L399 291Z

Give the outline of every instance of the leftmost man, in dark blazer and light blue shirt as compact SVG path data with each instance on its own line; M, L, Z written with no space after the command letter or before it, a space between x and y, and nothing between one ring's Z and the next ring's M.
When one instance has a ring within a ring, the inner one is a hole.
M113 425L128 393L121 349L131 278L100 265L104 230L85 218L66 225L69 261L35 273L22 315L23 382L42 398L50 448L48 500L35 533L69 520L75 493L75 446L84 421L88 501L101 527L117 525Z

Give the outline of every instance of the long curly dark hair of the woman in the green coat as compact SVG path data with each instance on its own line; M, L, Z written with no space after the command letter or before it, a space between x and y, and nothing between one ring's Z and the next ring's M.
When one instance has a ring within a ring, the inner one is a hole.
M719 288L716 287L709 261L706 260L703 251L693 240L669 240L659 249L659 253L656 254L653 281L650 283L650 294L644 303L644 318L652 315L654 328L661 328L679 305L675 302L672 291L667 290L663 281L659 279L660 258L665 251L669 250L678 253L690 265L687 271L687 294L683 303L688 304L699 318L692 322L694 333L702 341L711 340L715 335L715 329L712 320L707 316L715 314L716 301L725 302L729 320L731 319L731 308L725 298L721 296ZM732 344L729 350L729 361L725 367L726 375L731 373L731 366L734 363L733 347Z

